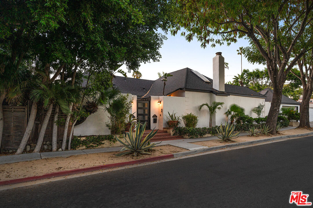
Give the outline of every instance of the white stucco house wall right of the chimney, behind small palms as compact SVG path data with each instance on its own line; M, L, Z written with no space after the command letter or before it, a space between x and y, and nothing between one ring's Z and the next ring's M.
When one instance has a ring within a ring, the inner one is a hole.
M238 104L241 107L244 107L245 109L245 114L256 118L256 114L252 112L252 109L259 104L264 104L265 100L264 98L255 98L255 97L244 97L244 96L237 96L237 95L230 95L230 96L219 96L219 95L214 95L212 96L213 99L215 97L215 100L217 102L224 102L223 108L221 110L218 110L215 119L213 117L214 122L212 122L213 125L220 125L224 124L225 121L227 121L227 117L225 116L225 112L227 111L228 107L235 103ZM212 100L213 101L213 100Z

